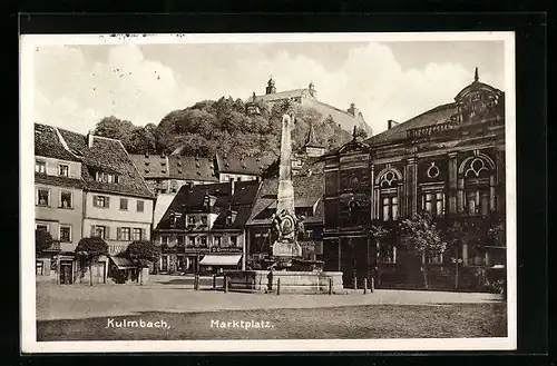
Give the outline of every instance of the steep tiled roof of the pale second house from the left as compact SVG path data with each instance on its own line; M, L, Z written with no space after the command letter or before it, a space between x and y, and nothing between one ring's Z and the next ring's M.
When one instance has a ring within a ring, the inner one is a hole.
M154 197L119 140L90 136L92 144L89 147L86 136L61 128L58 131L68 149L76 151L81 158L84 164L81 179L85 189L145 198ZM95 171L118 174L119 181L118 184L97 181Z

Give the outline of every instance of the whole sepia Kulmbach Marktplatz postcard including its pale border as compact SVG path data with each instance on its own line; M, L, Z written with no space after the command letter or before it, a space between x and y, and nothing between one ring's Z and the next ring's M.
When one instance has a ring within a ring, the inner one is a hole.
M514 42L21 36L22 350L516 349Z

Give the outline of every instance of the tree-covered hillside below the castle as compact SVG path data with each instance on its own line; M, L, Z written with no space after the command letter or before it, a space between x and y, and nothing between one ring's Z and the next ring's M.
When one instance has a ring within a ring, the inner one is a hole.
M241 99L221 98L204 100L192 107L174 110L157 125L135 126L117 117L105 117L94 131L95 135L121 140L129 154L170 154L179 149L187 156L212 157L243 155L254 157L278 157L281 141L281 118L287 111L294 117L292 131L293 150L303 146L313 123L315 136L328 150L338 148L351 139L331 119L323 119L317 111L292 103L267 108L260 103L260 115L248 116ZM361 138L365 131L358 130Z

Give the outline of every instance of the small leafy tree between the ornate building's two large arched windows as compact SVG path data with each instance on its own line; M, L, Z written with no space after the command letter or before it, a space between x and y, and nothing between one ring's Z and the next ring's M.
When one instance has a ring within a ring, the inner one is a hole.
M422 257L442 254L447 249L441 230L437 228L433 217L428 212L402 220L400 229ZM429 288L427 260L422 261L420 269L423 274L423 285Z

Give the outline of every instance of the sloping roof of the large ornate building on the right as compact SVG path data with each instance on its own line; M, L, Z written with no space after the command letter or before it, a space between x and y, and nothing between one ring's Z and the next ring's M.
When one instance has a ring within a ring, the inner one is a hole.
M402 123L375 135L364 141L367 145L392 142L407 138L407 131L418 127L433 126L447 122L457 112L457 103L451 102L432 108L419 116L416 116Z

